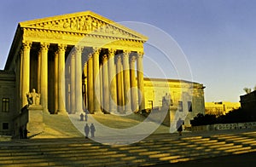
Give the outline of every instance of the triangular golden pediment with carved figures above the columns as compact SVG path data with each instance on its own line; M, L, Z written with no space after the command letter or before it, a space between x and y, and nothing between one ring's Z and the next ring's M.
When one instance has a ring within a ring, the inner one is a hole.
M63 14L38 20L20 22L20 27L54 30L61 32L79 32L111 37L125 37L147 41L148 37L108 20L91 11Z

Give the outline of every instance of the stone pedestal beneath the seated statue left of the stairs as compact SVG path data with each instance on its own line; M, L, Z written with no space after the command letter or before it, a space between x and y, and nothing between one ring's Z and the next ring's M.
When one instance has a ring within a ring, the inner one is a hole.
M44 131L43 112L44 108L40 105L31 105L27 108L26 129L29 131L28 137L37 135Z

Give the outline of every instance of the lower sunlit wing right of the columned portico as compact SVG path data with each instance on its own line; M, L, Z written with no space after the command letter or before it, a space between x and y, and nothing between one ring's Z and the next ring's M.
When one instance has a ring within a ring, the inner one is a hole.
M178 79L144 78L145 108L162 106L162 97L170 95L172 109L179 112L188 112L184 124L190 124L190 120L198 113L205 113L204 100L205 87L201 83L194 83ZM189 96L189 99L184 98Z

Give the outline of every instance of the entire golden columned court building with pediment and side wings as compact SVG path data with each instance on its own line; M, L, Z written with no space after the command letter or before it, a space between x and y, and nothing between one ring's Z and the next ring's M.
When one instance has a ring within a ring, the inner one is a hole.
M125 113L160 106L166 93L180 105L176 97L186 83L194 89L190 107L204 112L201 83L167 80L161 85L161 79L143 78L147 40L90 11L20 22L0 71L0 131L12 129L32 89L40 94L44 112Z

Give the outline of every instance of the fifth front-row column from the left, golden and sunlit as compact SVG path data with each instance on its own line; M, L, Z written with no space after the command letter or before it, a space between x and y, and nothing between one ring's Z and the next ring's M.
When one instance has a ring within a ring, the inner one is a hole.
M93 48L93 88L94 91L94 112L102 112L101 110L101 81L100 81L100 56L101 49Z

